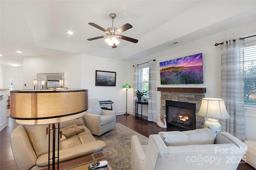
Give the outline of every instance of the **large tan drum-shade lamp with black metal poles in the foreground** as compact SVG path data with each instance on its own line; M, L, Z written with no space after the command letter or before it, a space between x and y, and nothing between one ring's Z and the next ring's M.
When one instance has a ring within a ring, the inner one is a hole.
M84 115L88 109L88 90L17 90L10 91L10 117L23 125L48 126L48 169L52 159L52 169L55 170L55 161L59 169L59 125L60 122L76 119ZM58 123L56 127L55 124ZM50 125L52 124L52 128ZM52 130L52 158L50 158L50 130ZM58 130L58 155L55 156L55 133Z

